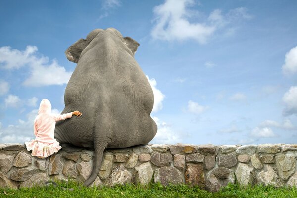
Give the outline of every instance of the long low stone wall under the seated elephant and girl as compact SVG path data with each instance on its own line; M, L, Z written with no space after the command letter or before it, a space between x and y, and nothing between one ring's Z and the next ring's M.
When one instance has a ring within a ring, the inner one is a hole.
M31 187L49 180L84 182L94 151L62 144L47 159L32 157L24 145L0 144L0 186ZM297 186L297 145L145 145L107 149L91 185L186 183L217 191L228 183Z

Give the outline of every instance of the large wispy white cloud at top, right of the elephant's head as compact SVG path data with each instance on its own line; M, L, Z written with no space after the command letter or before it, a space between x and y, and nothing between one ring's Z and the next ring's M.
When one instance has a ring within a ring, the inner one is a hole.
M247 9L240 7L230 10L226 15L222 15L222 11L216 9L204 21L200 19L201 22L191 22L193 16L200 15L198 11L190 9L194 5L194 0L165 0L163 4L154 7L155 25L151 36L166 41L193 39L204 44L215 31L235 19L251 18L247 14Z

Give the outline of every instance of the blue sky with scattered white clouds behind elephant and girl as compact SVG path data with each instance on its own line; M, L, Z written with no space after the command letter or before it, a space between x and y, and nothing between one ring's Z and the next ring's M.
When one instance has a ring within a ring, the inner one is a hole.
M292 0L0 0L0 142L34 138L42 99L63 110L76 66L64 51L114 27L140 43L152 143L296 143L296 10Z

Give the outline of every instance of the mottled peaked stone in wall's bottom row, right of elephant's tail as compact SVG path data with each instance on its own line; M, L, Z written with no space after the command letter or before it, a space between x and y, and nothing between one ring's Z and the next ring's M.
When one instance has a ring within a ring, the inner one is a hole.
M106 181L108 186L114 186L116 184L126 184L131 183L132 174L125 169L123 164L112 169L109 178Z

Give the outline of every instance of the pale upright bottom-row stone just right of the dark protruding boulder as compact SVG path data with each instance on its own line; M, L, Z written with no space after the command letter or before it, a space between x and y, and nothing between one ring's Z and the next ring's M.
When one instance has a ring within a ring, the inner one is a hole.
M248 184L254 184L254 175L253 167L248 166L247 164L239 163L235 171L237 181L243 185L247 186Z

